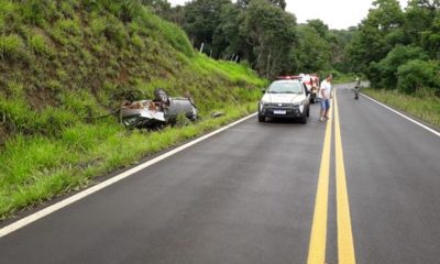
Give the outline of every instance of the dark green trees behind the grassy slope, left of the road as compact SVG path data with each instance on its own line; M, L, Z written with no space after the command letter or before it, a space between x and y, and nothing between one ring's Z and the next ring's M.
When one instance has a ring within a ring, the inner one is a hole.
M213 58L245 62L265 77L343 70L344 47L353 33L329 30L320 20L298 24L285 11L285 0L194 0L175 8L166 0L142 2L179 24L195 48Z

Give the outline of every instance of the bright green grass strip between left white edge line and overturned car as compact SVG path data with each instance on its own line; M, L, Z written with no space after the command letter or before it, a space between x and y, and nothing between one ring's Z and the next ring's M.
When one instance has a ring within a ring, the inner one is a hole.
M223 109L206 119L162 132L125 131L111 121L78 124L57 140L37 135L7 142L0 160L0 219L75 189L97 175L135 164L142 157L194 139L253 112L255 103Z

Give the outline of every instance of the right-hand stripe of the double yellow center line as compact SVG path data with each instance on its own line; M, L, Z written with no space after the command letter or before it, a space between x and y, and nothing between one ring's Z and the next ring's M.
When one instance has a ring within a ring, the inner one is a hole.
M345 166L339 122L338 99L334 96L334 147L337 173L337 217L338 217L338 260L339 264L354 264L354 244L350 218L349 195L346 190Z

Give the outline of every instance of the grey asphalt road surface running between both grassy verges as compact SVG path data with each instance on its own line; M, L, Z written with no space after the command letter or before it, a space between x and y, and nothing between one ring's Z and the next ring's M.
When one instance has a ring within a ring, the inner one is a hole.
M346 187L333 133L326 262L342 263L350 230L358 263L439 263L440 138L352 96L338 89ZM318 110L306 125L254 117L0 238L0 263L310 263Z

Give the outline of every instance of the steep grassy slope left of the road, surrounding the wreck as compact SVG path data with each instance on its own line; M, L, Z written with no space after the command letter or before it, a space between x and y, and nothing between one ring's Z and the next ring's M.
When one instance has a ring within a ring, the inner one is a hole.
M263 85L130 1L0 0L0 219L253 111ZM156 87L190 92L204 121L143 132L94 118Z

